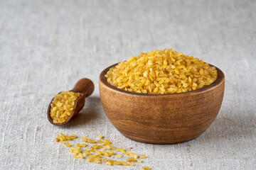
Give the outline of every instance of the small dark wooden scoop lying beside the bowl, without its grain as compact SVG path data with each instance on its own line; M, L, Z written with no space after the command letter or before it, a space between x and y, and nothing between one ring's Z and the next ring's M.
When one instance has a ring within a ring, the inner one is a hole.
M65 121L65 123L53 123L53 119L50 118L50 104L48 106L47 111L47 117L51 124L53 125L65 125L68 123L72 118L75 117L85 106L85 98L90 96L94 90L94 84L90 79L80 79L74 86L74 88L70 91L73 91L75 93L80 93L80 96L75 100L74 110L71 113L71 115L68 117L68 119ZM60 92L61 93L61 92ZM59 93L59 94L60 94ZM52 103L53 99L50 101Z

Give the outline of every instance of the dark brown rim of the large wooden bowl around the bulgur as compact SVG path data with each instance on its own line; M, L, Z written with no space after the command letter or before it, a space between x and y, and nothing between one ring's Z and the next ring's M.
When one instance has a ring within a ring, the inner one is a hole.
M188 94L190 94L190 95L201 94L203 92L215 89L216 86L222 84L222 82L225 81L224 73L218 67L215 67L213 64L209 64L211 67L215 67L215 69L217 69L218 77L217 77L217 79L212 84L210 84L208 86L205 86L205 87L203 87L201 89L196 89L196 90L193 90L193 91L186 91L186 92L174 93L174 94L139 94L139 93L135 93L135 92L131 92L131 91L124 91L122 89L118 89L117 87L112 86L111 84L109 84L107 82L105 74L107 74L107 71L110 68L116 66L117 64L119 64L119 62L117 62L116 64L112 64L110 67L107 67L106 69L104 69L100 73L99 83L102 82L102 84L107 86L107 88L112 89L113 91L117 91L117 92L122 93L122 94L129 94L129 95L132 95L132 96L181 96L181 95L188 95Z

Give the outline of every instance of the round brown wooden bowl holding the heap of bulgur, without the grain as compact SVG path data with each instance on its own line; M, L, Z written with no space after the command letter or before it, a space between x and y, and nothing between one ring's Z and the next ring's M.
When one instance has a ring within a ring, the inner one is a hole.
M110 67L100 74L102 106L112 125L131 140L186 142L205 132L220 111L225 77L217 67L218 79L213 84L181 94L137 94L117 89L104 76Z

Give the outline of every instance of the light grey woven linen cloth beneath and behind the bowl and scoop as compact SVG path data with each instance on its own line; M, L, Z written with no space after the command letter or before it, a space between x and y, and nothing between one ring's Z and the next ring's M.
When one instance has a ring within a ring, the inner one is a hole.
M0 1L0 169L256 169L256 1ZM107 120L98 77L110 64L173 48L225 73L218 117L200 137L150 145ZM51 98L82 77L95 91L68 125L48 123ZM136 166L74 159L53 142L71 132L148 155Z

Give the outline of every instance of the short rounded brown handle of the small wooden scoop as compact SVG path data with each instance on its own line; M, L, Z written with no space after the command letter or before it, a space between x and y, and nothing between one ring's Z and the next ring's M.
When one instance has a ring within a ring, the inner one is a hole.
M84 94L84 97L88 97L92 94L94 91L94 84L90 79L80 79L74 86L74 88L71 90L76 93L82 93Z

